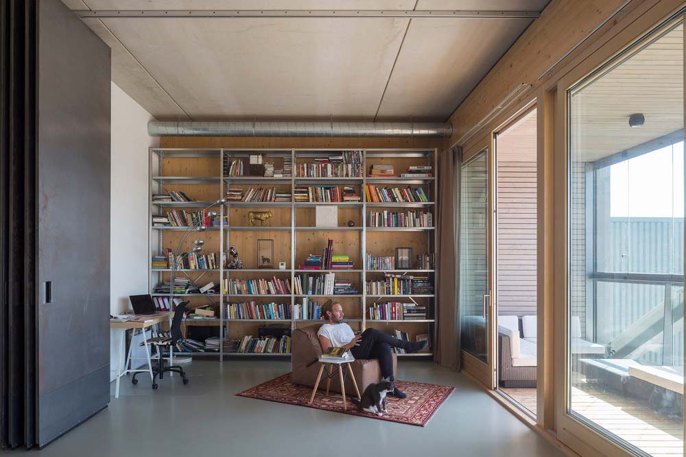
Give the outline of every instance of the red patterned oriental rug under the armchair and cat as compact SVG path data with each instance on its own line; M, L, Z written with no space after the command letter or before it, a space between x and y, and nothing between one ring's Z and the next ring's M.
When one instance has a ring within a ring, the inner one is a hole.
M388 412L383 417L359 410L350 401L349 395L346 395L348 409L344 410L343 399L340 393L331 392L329 395L325 395L326 391L322 388L317 391L314 402L310 405L308 402L309 397L312 395L312 388L293 384L291 382L291 373L263 382L236 395L423 427L431 419L431 416L434 415L434 412L438 410L438 407L455 390L454 387L450 386L438 386L437 384L423 384L412 381L396 381L396 385L407 394L407 398L388 397Z

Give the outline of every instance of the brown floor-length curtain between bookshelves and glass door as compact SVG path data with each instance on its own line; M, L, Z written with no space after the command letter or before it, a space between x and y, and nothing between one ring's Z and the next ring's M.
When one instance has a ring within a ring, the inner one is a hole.
M460 308L458 306L460 252L460 164L462 148L453 147L438 157L438 310L434 361L460 370Z

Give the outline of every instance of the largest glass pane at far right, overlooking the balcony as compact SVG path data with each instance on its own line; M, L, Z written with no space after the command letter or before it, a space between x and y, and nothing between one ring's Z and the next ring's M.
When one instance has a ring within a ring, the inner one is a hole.
M683 53L672 23L569 90L569 412L656 456L683 453Z

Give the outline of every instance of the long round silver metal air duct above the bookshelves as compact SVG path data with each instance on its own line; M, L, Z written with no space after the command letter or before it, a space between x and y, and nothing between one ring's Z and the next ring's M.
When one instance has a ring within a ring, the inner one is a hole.
M443 137L453 133L450 123L412 122L168 122L147 123L150 136L342 136Z

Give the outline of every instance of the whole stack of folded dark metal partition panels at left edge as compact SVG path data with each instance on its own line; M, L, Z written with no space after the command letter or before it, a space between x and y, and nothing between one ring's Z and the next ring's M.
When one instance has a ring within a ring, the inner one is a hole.
M61 1L1 1L3 449L106 407L109 250L110 50Z

